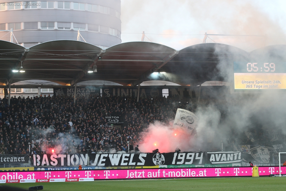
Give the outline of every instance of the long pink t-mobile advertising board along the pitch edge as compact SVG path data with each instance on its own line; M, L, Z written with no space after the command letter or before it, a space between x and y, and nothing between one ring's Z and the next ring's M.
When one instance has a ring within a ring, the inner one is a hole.
M286 167L281 167L285 170ZM277 167L259 167L260 176L279 174ZM277 171L277 172L276 172ZM251 167L227 168L159 168L116 170L59 170L0 172L0 183L74 182L112 179L203 178L252 176Z

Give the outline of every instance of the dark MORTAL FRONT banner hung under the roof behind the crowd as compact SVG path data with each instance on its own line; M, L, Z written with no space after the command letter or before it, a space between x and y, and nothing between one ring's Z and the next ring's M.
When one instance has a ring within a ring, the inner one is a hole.
M74 97L74 88L54 88L55 96ZM76 97L98 97L100 96L100 87L80 87L76 88Z

